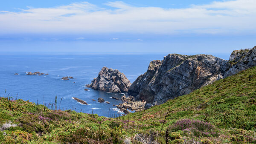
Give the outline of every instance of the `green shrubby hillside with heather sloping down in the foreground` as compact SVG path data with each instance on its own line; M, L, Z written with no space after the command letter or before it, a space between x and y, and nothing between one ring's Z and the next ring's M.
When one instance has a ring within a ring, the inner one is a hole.
M166 113L170 109L169 114ZM166 116L166 121L164 121ZM214 82L194 92L121 118L50 110L27 101L0 99L0 126L18 124L3 132L0 141L41 143L165 142L166 129L181 119L207 121L217 127L218 136L195 136L169 128L169 142L240 143L256 139L256 67ZM128 121L129 119L129 121ZM164 123L164 125L163 125ZM163 126L163 130L160 130ZM100 130L99 130L100 127ZM4 135L4 133L6 135ZM158 133L158 136L157 134Z

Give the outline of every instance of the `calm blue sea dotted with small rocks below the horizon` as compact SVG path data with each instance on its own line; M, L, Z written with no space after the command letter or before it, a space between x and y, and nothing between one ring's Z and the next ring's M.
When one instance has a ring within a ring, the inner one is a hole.
M103 66L118 69L130 82L146 72L151 60L163 60L167 54L155 55L39 55L39 54L6 54L0 55L0 96L12 96L16 99L29 100L37 104L55 103L58 98L58 109L74 109L76 112L93 113L100 116L118 114L113 106L121 103L111 97L121 98L126 93L108 93L89 89L90 84L98 76ZM228 57L228 56L226 56ZM26 75L25 72L42 72L49 75ZM19 75L14 75L18 73ZM74 79L61 80L64 76ZM74 83L75 82L75 83ZM88 103L82 105L72 99L79 98ZM62 101L61 101L62 98ZM104 98L107 103L97 102ZM92 99L96 101L92 101ZM60 104L61 101L61 104Z

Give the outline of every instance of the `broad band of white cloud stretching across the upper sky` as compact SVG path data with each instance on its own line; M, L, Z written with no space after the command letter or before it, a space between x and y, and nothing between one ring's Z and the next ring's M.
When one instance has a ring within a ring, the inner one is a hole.
M256 33L256 0L230 0L183 9L135 7L121 1L103 9L88 2L52 8L0 11L6 33Z

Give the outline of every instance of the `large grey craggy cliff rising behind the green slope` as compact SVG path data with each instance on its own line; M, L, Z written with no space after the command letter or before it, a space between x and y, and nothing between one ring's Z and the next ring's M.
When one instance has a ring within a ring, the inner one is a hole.
M151 107L252 66L256 66L256 47L234 51L230 60L212 55L169 54L162 61L152 61L128 92Z

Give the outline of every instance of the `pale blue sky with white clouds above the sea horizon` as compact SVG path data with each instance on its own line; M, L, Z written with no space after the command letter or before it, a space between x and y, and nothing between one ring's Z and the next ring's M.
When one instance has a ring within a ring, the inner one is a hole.
M2 0L0 52L230 54L255 23L256 0Z

